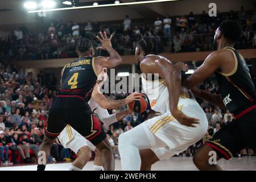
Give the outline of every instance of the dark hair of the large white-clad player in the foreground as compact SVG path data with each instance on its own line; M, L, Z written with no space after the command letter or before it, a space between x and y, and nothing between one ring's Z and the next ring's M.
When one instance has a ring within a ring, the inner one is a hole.
M155 39L151 39L148 36L144 36L141 40L138 41L138 46L145 52L145 56L149 54L158 54L156 51Z

